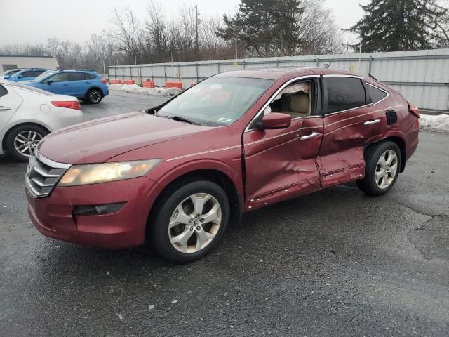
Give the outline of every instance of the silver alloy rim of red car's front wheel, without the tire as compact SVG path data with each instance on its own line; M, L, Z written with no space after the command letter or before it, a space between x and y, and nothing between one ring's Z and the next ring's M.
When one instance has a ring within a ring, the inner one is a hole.
M177 205L168 224L172 246L182 253L196 253L213 241L222 222L222 209L217 199L207 193L196 193Z

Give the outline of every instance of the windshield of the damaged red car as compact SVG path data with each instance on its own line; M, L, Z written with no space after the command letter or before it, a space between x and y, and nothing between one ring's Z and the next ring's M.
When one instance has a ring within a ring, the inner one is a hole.
M232 124L272 83L270 79L210 77L177 96L156 114L207 126Z

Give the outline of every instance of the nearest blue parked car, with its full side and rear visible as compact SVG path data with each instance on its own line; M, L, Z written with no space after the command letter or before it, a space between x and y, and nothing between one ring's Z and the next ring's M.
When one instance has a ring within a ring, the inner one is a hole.
M51 93L70 95L88 103L98 104L109 94L106 80L94 71L53 70L25 84Z

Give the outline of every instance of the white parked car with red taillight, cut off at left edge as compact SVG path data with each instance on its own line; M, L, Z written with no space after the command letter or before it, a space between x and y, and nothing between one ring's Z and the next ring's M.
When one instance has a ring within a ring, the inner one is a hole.
M0 154L28 161L44 136L81 121L76 98L0 79Z

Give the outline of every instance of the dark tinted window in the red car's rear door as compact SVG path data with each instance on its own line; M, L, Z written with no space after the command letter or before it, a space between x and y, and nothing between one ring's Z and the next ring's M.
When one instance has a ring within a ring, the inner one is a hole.
M354 109L366 104L361 79L355 77L326 77L326 114Z

